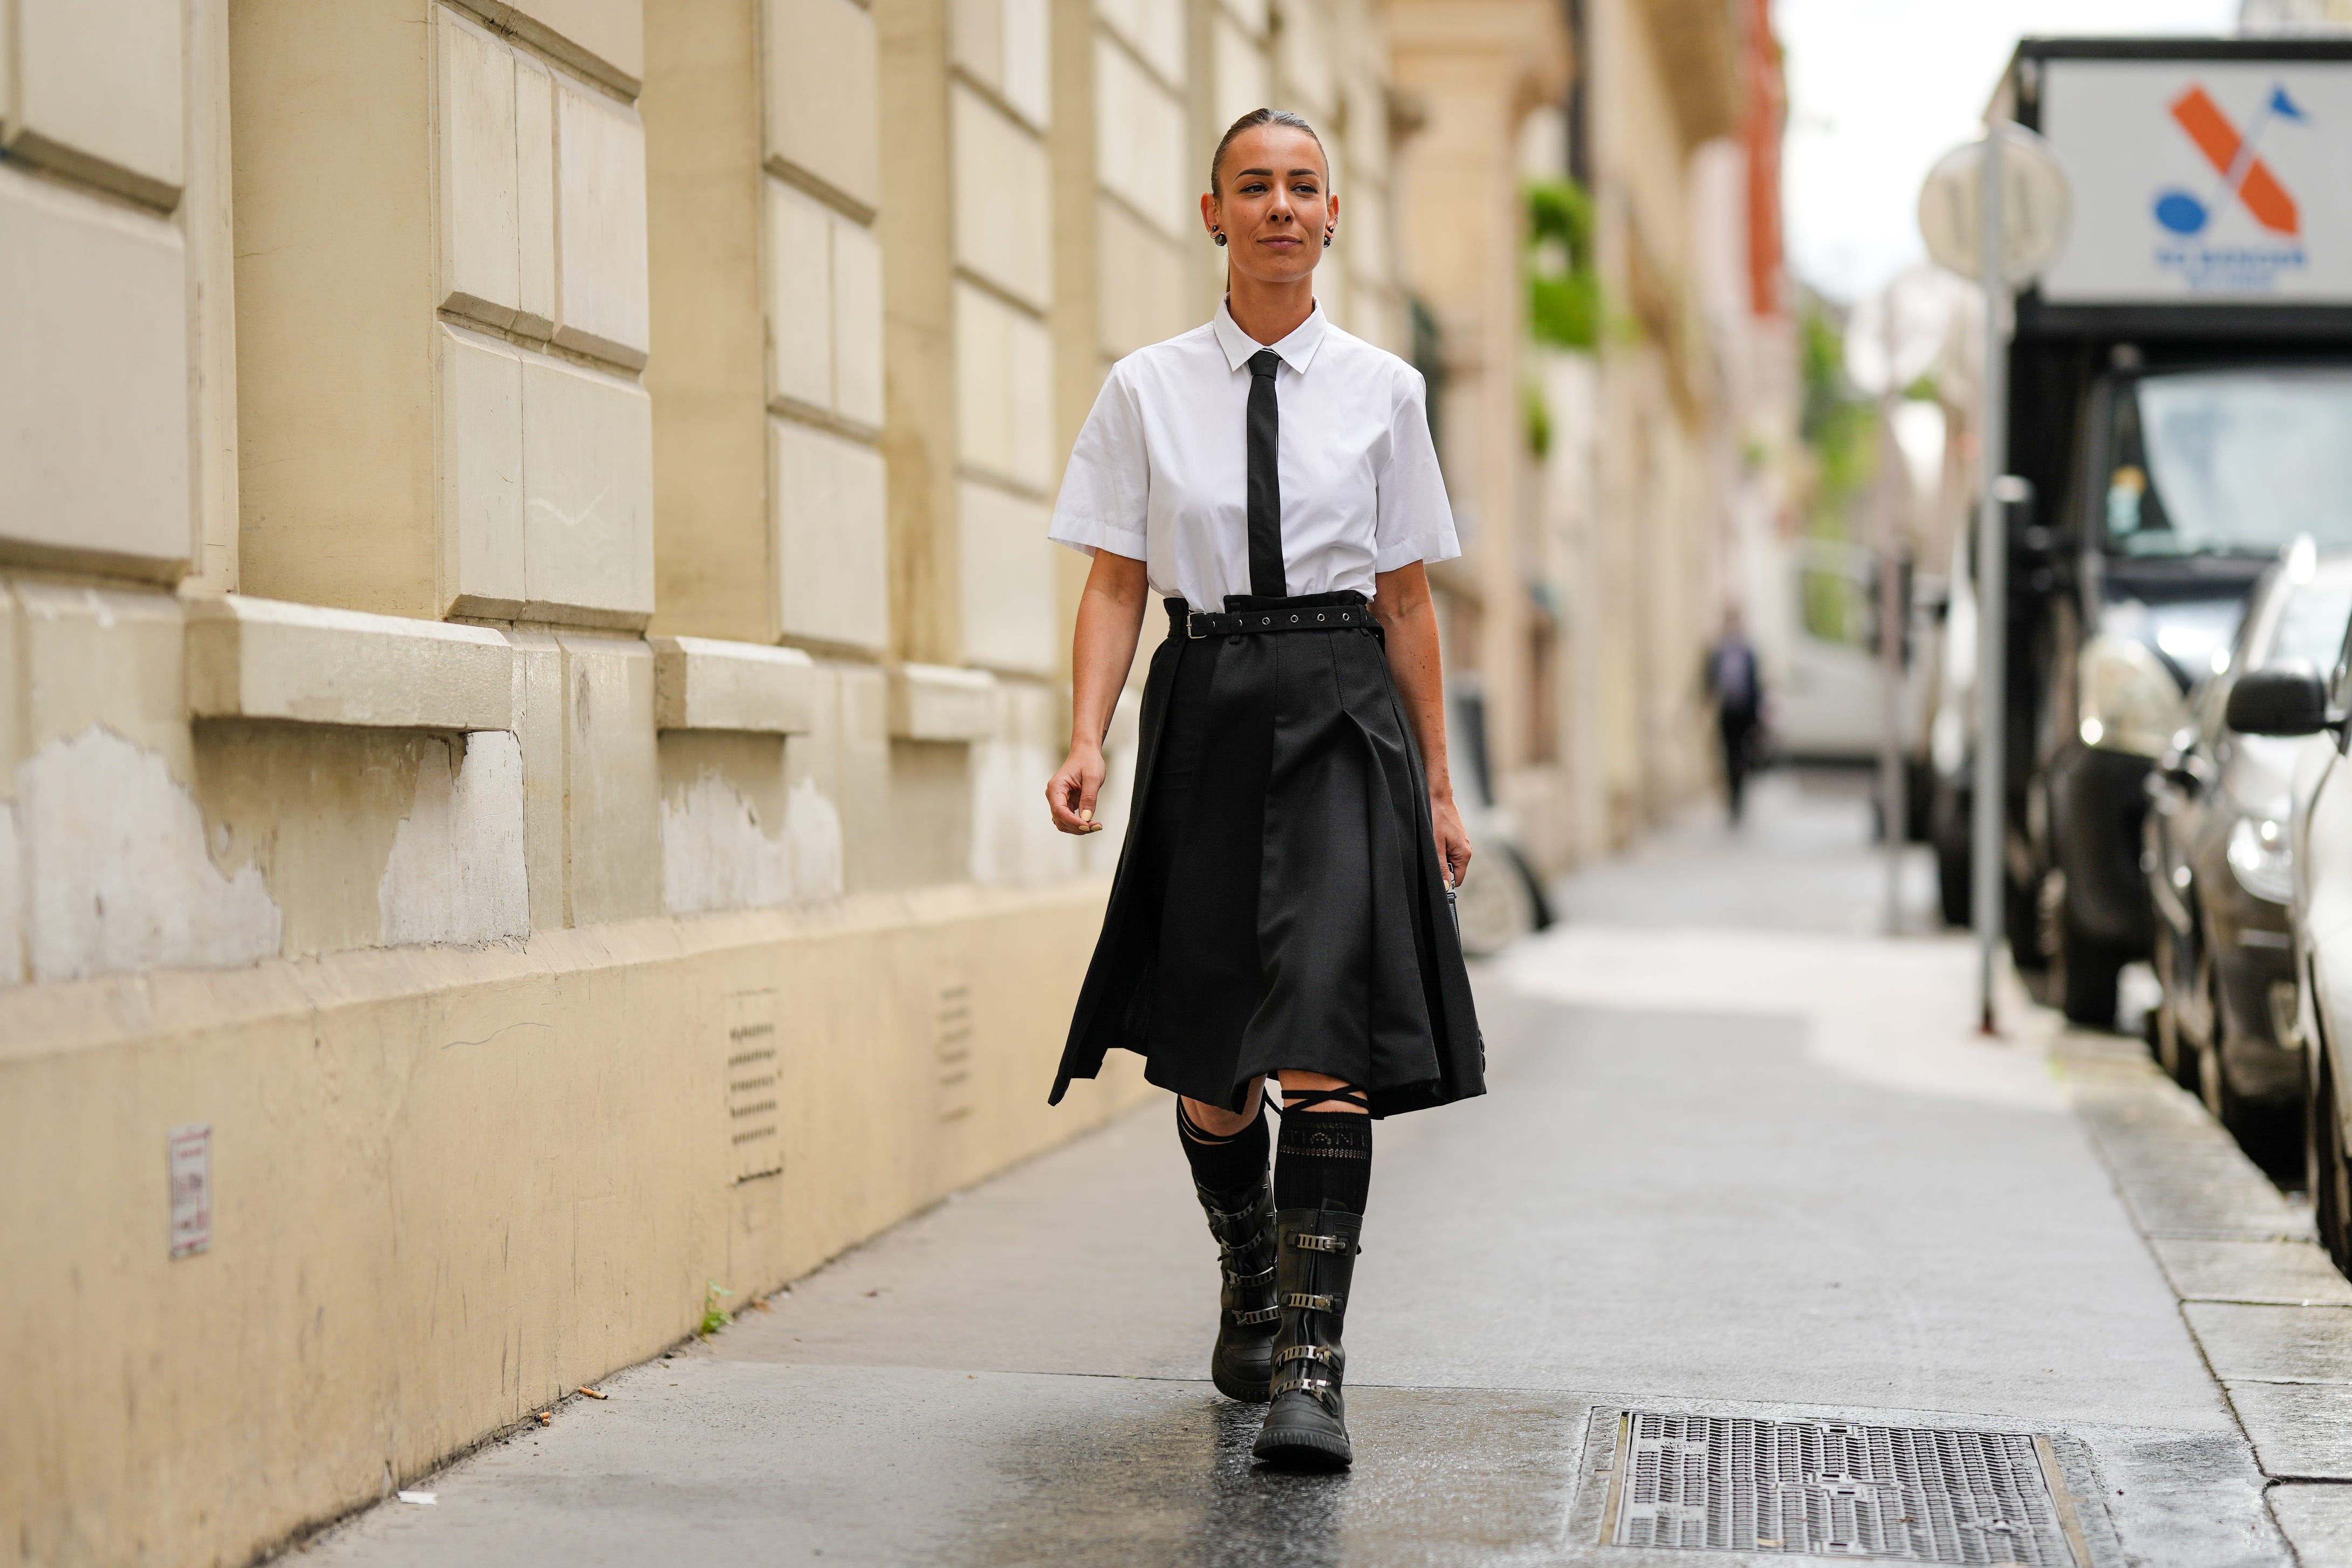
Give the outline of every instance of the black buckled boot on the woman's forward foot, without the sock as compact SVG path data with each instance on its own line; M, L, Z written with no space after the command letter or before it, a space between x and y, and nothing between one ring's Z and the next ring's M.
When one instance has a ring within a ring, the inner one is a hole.
M1364 1215L1343 1208L1284 1208L1275 1215L1279 1253L1275 1291L1282 1331L1275 1335L1272 1406L1256 1453L1282 1469L1341 1469L1355 1462L1341 1373L1348 1352L1338 1333L1348 1316Z

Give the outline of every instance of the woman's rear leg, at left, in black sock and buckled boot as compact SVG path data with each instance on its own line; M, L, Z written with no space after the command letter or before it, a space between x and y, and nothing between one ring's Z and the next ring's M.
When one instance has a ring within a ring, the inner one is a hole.
M1223 1274L1216 1349L1209 1378L1228 1399L1265 1401L1275 1375L1275 1194L1265 1182L1263 1079L1251 1081L1247 1112L1204 1100L1176 1100L1176 1140L1192 1166L1192 1192L1216 1237Z

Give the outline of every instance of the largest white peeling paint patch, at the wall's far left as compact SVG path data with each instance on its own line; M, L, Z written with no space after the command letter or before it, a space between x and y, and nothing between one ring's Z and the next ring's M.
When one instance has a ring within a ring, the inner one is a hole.
M278 954L261 872L221 875L205 813L155 752L92 724L16 764L16 799L35 980Z

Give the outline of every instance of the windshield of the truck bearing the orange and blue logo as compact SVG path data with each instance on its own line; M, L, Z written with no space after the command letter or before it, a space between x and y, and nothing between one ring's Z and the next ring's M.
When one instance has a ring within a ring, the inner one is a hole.
M2352 371L2183 371L2114 397L2107 548L2270 555L2352 548Z

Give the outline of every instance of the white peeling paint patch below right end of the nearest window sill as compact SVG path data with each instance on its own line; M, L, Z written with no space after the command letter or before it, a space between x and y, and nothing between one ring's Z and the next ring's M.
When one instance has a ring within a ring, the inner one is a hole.
M376 884L383 945L496 943L532 933L522 863L522 741L503 729L426 745L416 802Z

